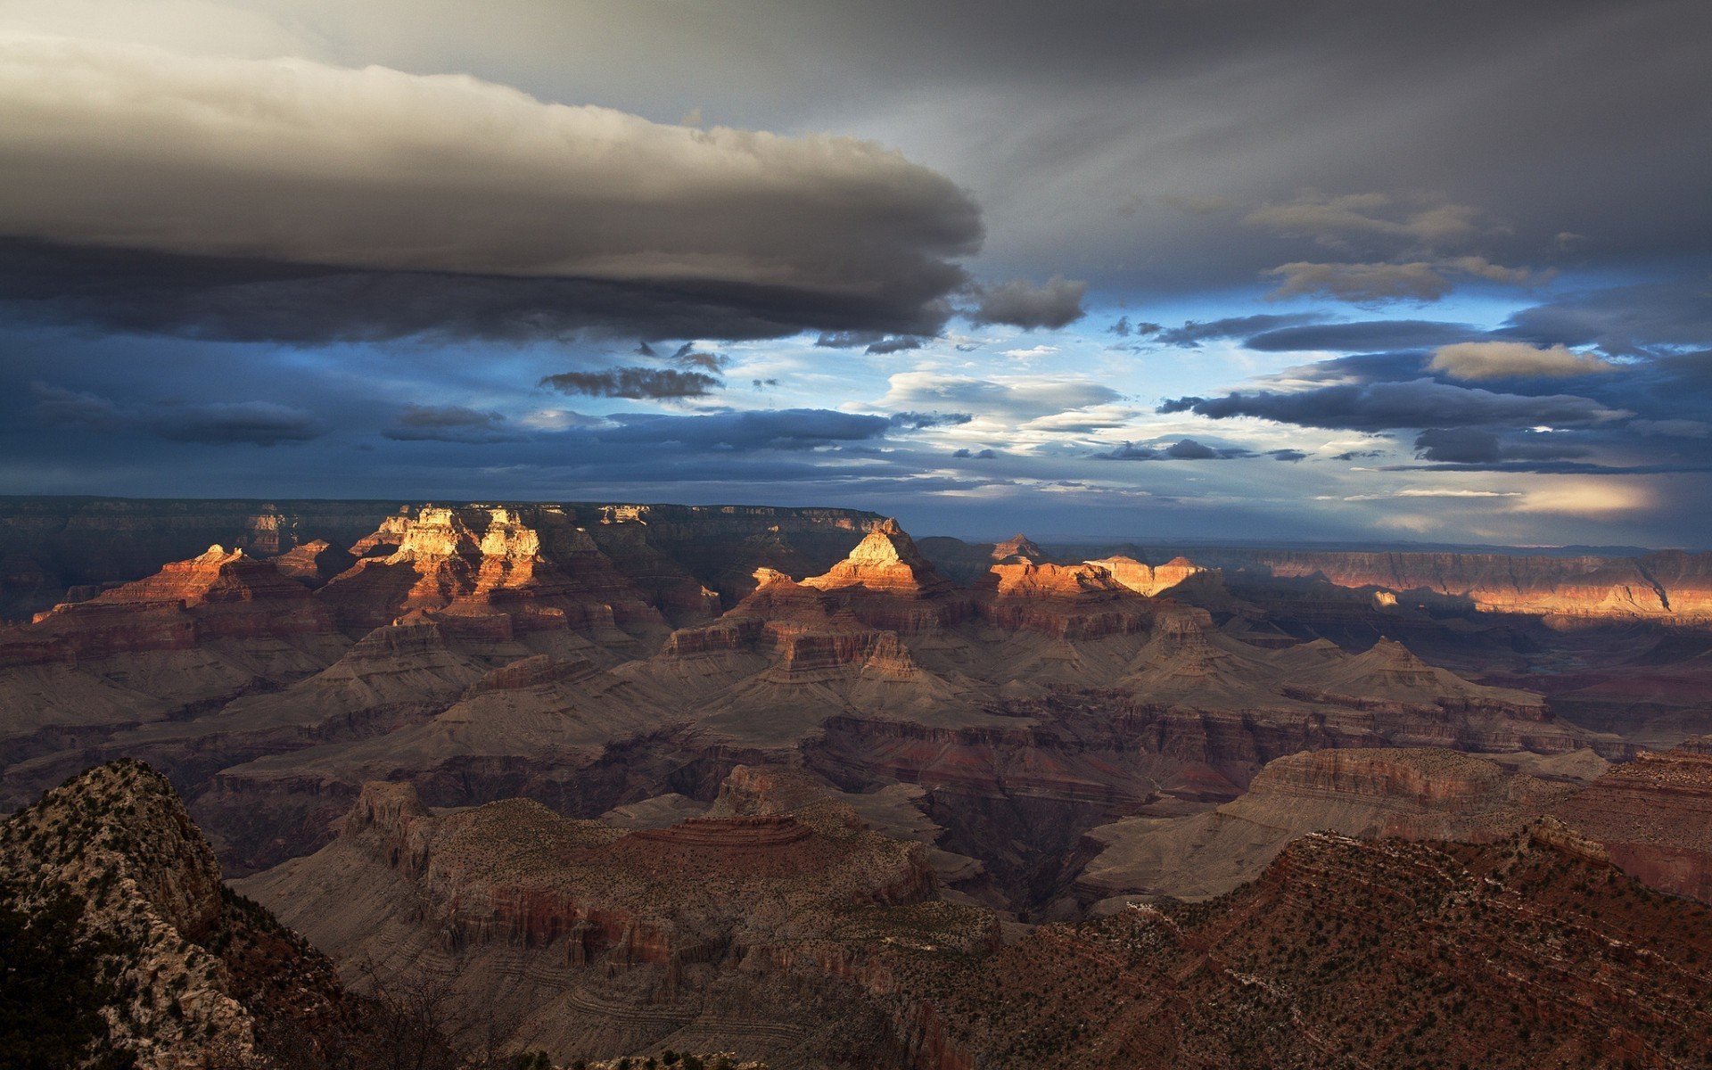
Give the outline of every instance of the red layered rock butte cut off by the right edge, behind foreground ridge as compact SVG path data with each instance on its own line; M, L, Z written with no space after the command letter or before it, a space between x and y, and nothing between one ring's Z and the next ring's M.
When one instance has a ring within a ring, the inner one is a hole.
M1712 902L1712 746L1705 740L1616 765L1553 813L1625 873Z

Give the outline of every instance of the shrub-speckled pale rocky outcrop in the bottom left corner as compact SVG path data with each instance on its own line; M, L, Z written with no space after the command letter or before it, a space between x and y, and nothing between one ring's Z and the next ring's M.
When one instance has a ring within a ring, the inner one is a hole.
M0 907L29 918L67 902L80 933L68 954L96 955L56 1010L98 1022L67 1065L387 1056L380 1008L348 998L325 959L221 887L207 841L142 764L92 769L0 825Z

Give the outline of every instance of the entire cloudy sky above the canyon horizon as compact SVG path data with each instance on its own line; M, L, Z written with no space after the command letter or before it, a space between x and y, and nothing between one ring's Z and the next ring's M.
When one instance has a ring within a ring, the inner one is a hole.
M0 493L1709 548L1703 0L0 0Z

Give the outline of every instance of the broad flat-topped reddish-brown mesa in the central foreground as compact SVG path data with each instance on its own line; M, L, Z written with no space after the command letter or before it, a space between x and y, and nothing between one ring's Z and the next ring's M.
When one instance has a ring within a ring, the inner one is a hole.
M984 912L933 902L919 844L745 770L712 817L633 832L520 800L435 815L370 784L334 844L240 887L383 974L455 962L459 991L562 1061L700 1037L781 1067L897 1065L911 1022L878 998L883 948L996 943ZM536 983L491 988L519 969Z

